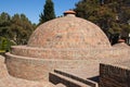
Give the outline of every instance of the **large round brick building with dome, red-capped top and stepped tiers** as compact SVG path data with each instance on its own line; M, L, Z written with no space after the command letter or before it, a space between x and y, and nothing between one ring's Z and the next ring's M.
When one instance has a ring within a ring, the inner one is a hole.
M11 75L31 80L48 80L54 69L75 69L86 65L88 59L107 58L115 52L102 29L66 11L58 17L41 24L26 46L13 46L6 53Z

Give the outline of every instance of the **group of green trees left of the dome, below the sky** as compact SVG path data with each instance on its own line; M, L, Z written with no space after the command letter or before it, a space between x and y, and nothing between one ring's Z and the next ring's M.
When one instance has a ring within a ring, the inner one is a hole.
M24 14L14 14L13 16L4 12L0 14L0 37L12 40L16 45L26 45L35 28L36 25L31 24Z

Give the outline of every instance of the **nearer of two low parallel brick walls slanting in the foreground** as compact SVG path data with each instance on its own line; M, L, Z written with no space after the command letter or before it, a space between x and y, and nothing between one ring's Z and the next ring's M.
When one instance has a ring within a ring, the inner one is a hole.
M53 83L55 85L63 84L63 85L65 85L65 87L92 87L92 86L89 86L84 83L75 80L70 77L61 75L61 74L55 73L55 72L51 72L49 78L50 78L51 83Z

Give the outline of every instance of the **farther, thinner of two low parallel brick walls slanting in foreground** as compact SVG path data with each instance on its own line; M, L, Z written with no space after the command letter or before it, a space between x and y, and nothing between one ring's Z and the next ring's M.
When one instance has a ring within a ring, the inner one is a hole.
M89 85L90 87L99 87L98 83L95 83L95 82L93 82L93 80L83 79L83 78L81 78L81 77L78 77L78 76L76 76L76 75L72 75L72 74L66 73L66 72L61 71L61 70L54 70L54 72L57 73L57 74L61 74L61 75L63 75L63 76L69 77L69 78L72 78L72 79L75 79L75 80L81 82L81 83L83 83L83 84L87 84L87 85Z

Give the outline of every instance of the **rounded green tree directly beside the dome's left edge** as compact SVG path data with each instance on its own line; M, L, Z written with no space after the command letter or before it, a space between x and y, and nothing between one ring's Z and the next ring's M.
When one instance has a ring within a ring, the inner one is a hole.
M17 45L25 45L34 30L34 26L25 14L14 14L11 29L13 32L13 40Z

